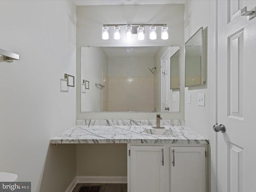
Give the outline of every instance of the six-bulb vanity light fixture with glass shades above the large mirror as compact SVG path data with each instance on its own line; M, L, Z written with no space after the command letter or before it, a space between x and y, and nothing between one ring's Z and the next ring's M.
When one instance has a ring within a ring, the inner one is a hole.
M163 40L167 40L169 38L168 36L168 27L166 24L104 24L102 27L102 39L108 40L109 34L108 34L108 26L114 26L114 39L119 40L121 38L120 33L120 26L126 26L126 40L132 39L132 34L138 35L138 40L144 40L145 39L145 26L150 26L149 28L149 38L151 40L156 40L157 34L156 34L156 26L162 26L161 28L161 38Z

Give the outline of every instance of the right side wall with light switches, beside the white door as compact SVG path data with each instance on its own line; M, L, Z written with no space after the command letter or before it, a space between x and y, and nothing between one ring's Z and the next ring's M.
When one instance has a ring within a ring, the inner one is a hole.
M200 28L204 27L206 36L206 82L202 86L193 86L185 89L185 120L186 126L210 138L210 58L211 58L211 3L209 1L193 0L185 4L185 42ZM205 94L205 106L198 106L198 93ZM191 94L192 103L188 104L188 94Z

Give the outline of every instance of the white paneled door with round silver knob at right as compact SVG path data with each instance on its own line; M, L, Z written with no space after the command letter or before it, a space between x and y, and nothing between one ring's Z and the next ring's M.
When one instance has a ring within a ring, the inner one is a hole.
M217 190L256 191L256 18L241 16L255 0L218 1Z

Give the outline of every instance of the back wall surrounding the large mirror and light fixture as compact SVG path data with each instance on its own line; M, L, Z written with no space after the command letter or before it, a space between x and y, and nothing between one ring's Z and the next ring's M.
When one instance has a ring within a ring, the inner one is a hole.
M181 63L184 63L184 4L162 5L114 5L114 6L77 6L77 80L80 81L80 47L82 46L181 46ZM166 23L169 27L169 39L160 38L160 28L157 29L157 40L148 38L146 28L145 40L134 38L126 42L124 28L121 29L121 39L113 39L113 28L110 29L110 39L102 40L103 24L115 23ZM184 66L181 68L181 74ZM184 80L184 77L182 77ZM182 80L182 81L183 81ZM181 82L182 84L182 82ZM183 83L184 84L184 83ZM182 85L183 85L182 84ZM181 88L181 100L184 100L184 87ZM77 89L77 119L155 119L155 113L131 112L80 112L80 87ZM184 119L184 105L181 112L162 113L163 119Z

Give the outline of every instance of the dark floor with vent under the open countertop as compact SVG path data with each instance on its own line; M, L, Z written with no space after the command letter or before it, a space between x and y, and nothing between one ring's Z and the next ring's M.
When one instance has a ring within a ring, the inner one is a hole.
M80 192L82 186L100 186L99 191L86 191L86 192L127 192L126 183L78 183L73 192ZM83 191L81 191L83 192Z

